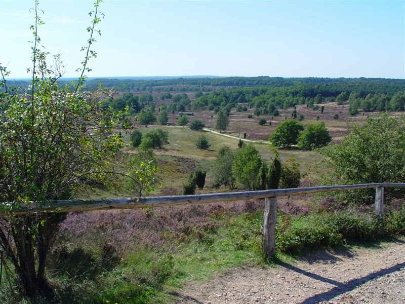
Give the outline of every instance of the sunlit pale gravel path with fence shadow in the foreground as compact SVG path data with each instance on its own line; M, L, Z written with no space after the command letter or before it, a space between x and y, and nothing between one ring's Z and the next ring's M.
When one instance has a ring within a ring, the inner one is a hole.
M179 292L184 303L405 303L405 239L241 267Z

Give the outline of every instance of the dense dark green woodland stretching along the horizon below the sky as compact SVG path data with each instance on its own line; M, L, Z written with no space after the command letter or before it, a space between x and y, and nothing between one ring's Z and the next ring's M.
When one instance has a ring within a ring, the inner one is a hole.
M351 115L361 111L405 110L405 80L326 78L196 78L172 80L94 79L86 86L124 91L122 97L107 100L114 109L139 112L152 101L172 99L169 111L190 111L208 107L229 113L255 108L255 115L278 116L279 109L306 104L317 109L323 102L349 102ZM181 91L196 92L193 98ZM146 93L145 93L146 92ZM177 93L177 94L176 94ZM135 94L135 95L134 95ZM154 94L155 97L152 96ZM156 95L157 94L157 95Z

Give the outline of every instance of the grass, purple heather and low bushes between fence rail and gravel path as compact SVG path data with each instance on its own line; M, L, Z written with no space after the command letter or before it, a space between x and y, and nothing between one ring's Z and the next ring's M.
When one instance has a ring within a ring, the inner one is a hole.
M326 208L331 202L278 208L276 259L405 235L403 203L380 220L370 208ZM47 268L55 296L34 302L173 303L186 281L268 264L261 252L263 202L225 206L70 214ZM30 302L18 294L16 282L3 274L0 301Z

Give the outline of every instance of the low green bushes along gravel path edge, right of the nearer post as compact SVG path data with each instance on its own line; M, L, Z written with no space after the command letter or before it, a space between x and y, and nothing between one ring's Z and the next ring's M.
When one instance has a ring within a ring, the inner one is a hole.
M280 214L276 224L277 249L290 253L398 235L405 235L405 208L391 211L383 219L377 218L372 212L358 213L350 209L302 216Z

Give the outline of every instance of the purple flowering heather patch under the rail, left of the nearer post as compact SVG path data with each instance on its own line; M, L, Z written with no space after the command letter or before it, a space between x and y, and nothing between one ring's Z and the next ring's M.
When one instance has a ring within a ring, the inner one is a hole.
M187 242L192 236L206 241L206 235L215 233L221 225L219 219L260 206L262 203L250 200L151 210L74 212L62 222L60 236L90 247L112 244L119 251L136 245L175 250L176 244Z

